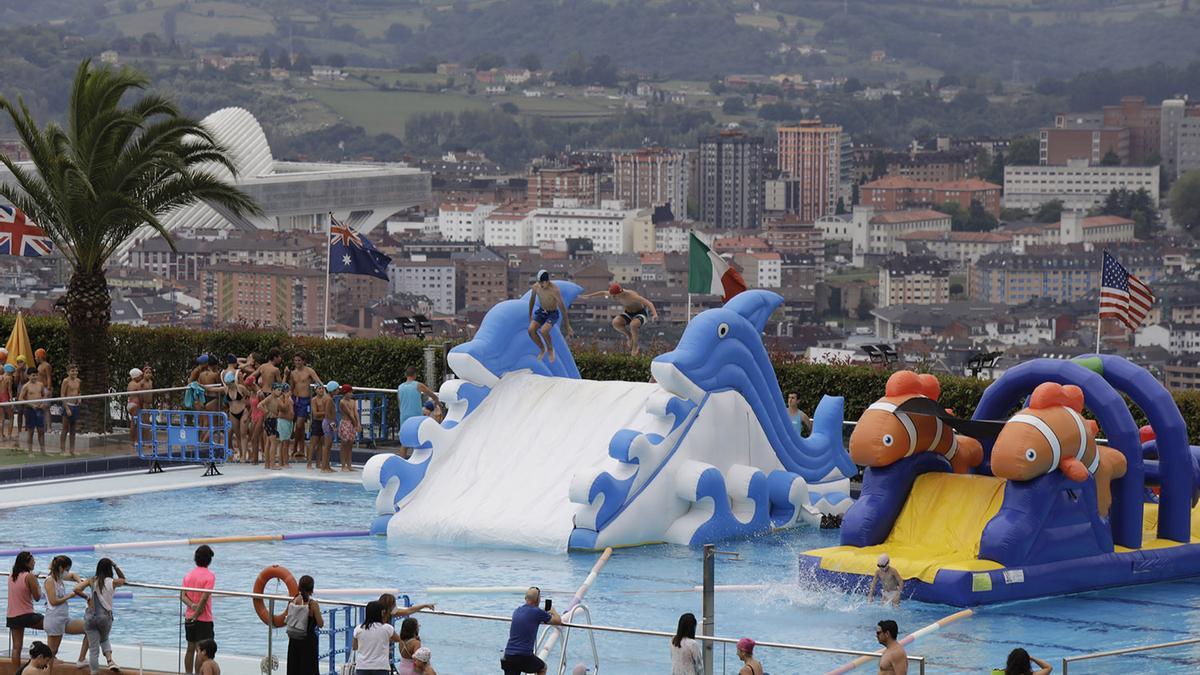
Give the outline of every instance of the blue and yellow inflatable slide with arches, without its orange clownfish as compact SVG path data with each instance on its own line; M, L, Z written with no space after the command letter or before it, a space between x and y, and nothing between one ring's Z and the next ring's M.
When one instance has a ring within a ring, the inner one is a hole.
M868 467L862 496L845 514L841 545L803 554L802 574L858 587L887 552L907 581L905 596L958 607L1200 574L1194 508L1200 448L1189 447L1170 393L1121 357L1037 359L994 382L973 419L1006 419L1045 382L1079 387L1108 446L1124 458L1106 516L1093 476L1078 480L1051 470L1022 480L996 477L996 438L980 436L983 461L967 473L953 473L947 458L934 452ZM1150 430L1139 431L1126 396L1145 412ZM1144 441L1147 436L1153 440ZM853 455L853 440L851 446ZM1079 448L1082 456L1082 442ZM1027 452L1031 459L1037 454ZM1147 485L1157 485L1158 494Z

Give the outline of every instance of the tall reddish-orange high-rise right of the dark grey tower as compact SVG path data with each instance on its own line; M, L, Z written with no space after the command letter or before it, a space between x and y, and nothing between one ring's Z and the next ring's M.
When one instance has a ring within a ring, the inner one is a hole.
M803 222L830 215L841 181L841 127L817 120L780 126L779 172L797 183L793 213Z

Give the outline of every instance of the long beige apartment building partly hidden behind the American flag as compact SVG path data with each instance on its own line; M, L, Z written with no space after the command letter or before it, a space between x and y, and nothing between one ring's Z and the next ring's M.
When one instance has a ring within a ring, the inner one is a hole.
M1127 250L1117 258L1151 286L1166 275L1162 256L1154 251ZM967 286L972 299L988 303L1015 305L1034 298L1069 303L1099 289L1100 255L1076 250L991 253L970 267Z

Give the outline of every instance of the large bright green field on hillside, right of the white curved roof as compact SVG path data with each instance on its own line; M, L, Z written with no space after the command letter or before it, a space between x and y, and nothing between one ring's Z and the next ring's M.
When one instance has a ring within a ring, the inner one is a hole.
M368 133L391 133L397 138L404 137L404 124L415 114L457 113L488 107L480 98L457 94L330 88L313 89L312 96L332 108L347 123L361 126Z

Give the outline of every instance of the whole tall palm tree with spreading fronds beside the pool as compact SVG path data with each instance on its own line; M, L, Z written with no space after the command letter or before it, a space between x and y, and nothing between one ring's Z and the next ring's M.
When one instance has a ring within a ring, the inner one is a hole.
M236 174L227 150L173 101L144 94L121 106L149 84L140 72L84 60L71 88L66 129L54 123L38 129L22 98L14 106L0 97L32 163L18 166L0 155L13 175L12 184L0 184L0 197L42 227L71 264L59 304L85 393L109 387L112 298L104 265L118 247L150 226L174 249L160 219L200 199L233 214L260 213L227 183ZM102 426L102 411L98 401L86 406L85 425Z

